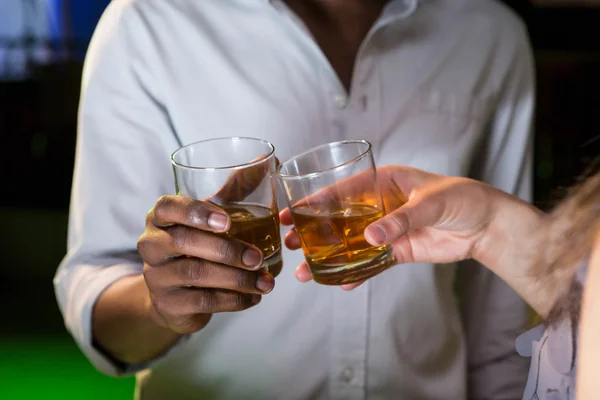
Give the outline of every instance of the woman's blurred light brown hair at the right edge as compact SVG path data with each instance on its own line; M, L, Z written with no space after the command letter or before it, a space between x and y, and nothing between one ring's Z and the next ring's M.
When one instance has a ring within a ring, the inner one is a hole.
M599 164L600 158L595 161ZM546 322L552 324L570 316L577 323L583 293L577 271L586 266L600 235L600 172L571 190L548 216L544 235L537 272L540 279L559 281L558 297Z

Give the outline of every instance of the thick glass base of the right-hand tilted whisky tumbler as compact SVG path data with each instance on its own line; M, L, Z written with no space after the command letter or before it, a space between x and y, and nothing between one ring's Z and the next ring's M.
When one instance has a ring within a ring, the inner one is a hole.
M339 286L356 283L378 275L394 265L394 255L388 248L377 257L344 265L315 265L308 261L313 279L322 285Z

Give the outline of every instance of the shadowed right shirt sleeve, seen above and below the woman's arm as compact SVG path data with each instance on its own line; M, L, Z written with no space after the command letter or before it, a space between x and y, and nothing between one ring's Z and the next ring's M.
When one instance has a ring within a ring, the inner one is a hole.
M516 50L472 177L531 201L534 68L525 28L519 28ZM520 399L528 359L517 354L515 339L526 330L527 305L500 278L472 260L459 264L457 285L467 339L469 398Z

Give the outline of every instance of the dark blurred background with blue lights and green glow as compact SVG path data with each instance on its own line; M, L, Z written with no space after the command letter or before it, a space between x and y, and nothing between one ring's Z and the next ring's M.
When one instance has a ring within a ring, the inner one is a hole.
M600 154L600 2L505 2L535 49L535 201L548 208ZM82 63L108 3L0 0L0 399L132 398L132 379L104 377L80 354L52 287Z

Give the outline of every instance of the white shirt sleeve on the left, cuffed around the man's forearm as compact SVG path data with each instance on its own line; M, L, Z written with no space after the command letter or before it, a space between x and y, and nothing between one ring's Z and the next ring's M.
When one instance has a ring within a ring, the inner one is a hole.
M68 251L54 287L65 324L90 361L120 375L93 346L92 311L113 282L140 274L136 251L154 202L173 193L170 152L177 140L153 87L148 48L133 2L112 2L94 34L84 67ZM135 36L134 36L135 34Z

